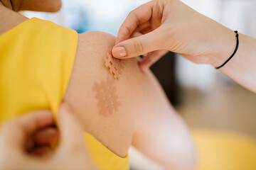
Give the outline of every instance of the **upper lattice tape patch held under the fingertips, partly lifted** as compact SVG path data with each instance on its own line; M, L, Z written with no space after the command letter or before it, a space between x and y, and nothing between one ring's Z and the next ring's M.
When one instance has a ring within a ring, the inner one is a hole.
M119 79L120 75L122 74L122 69L124 69L124 61L112 57L111 52L107 53L104 60L105 67L109 69L114 79Z

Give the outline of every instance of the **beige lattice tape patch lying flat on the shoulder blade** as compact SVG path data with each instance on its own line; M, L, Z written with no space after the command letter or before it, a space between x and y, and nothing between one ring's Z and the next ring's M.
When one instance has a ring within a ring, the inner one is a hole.
M101 80L100 83L95 82L92 90L96 92L97 107L100 109L101 115L111 115L119 108L117 89L114 87L114 79Z

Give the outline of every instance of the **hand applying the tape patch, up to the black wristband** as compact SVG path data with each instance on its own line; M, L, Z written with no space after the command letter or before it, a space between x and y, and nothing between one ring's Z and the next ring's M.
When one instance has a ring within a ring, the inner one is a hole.
M196 63L219 66L235 48L235 33L178 0L153 0L134 9L119 28L112 55L145 55L146 69L164 55L177 52ZM162 51L159 51L162 50Z

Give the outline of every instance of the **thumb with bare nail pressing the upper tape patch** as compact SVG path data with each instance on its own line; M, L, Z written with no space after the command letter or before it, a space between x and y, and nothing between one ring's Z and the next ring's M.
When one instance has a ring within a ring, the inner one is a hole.
M112 48L112 55L116 58L131 58L144 55L155 50L164 50L163 35L159 28L137 38L130 38L119 42Z

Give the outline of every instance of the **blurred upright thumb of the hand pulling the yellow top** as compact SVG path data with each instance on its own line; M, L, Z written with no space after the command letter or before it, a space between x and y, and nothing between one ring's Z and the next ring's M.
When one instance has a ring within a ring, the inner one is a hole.
M59 109L60 149L83 147L84 138L80 122L73 115L68 103L63 103Z

